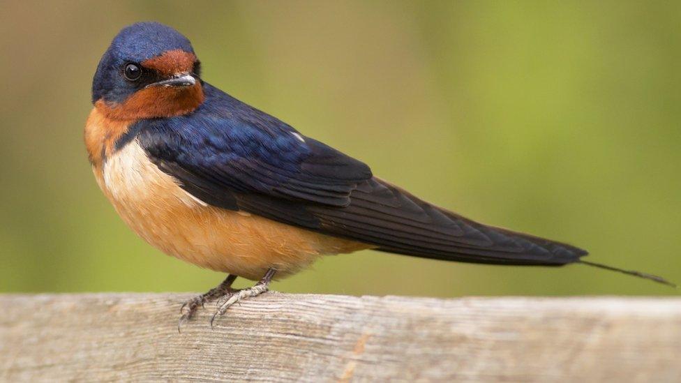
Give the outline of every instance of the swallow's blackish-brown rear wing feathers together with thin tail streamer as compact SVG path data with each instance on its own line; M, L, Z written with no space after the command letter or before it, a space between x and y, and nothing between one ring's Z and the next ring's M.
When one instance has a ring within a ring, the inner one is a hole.
M482 264L582 263L676 286L659 276L583 261L580 258L588 252L567 243L477 223L376 177L360 183L342 209L324 205L306 209L320 222L313 230L387 253Z

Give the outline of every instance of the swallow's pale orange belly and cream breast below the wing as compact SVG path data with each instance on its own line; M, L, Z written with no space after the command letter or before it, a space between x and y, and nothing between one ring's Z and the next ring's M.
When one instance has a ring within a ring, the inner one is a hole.
M269 268L286 276L320 255L371 248L209 206L158 170L137 142L95 169L100 188L126 223L164 253L215 271L260 279Z

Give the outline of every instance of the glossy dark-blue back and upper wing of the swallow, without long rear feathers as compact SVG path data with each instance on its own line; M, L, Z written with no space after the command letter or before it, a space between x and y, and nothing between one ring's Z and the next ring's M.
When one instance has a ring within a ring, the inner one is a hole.
M347 206L357 184L371 179L359 160L208 84L204 89L207 100L193 114L133 129L156 165L199 197L225 205L225 192L260 193Z

